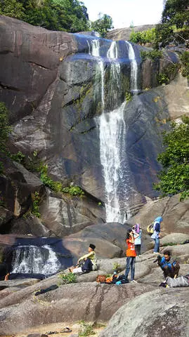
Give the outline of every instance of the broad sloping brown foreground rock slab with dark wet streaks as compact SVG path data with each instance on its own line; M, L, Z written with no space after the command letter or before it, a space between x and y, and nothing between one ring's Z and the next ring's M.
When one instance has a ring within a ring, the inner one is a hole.
M1 311L1 334L20 333L33 326L63 321L108 321L125 301L153 289L146 285L110 286L93 282L87 283L87 286L86 283L65 284L56 290L34 296L34 289L41 289L40 283L0 300L1 308L6 303L6 308ZM25 296L21 293L25 293Z

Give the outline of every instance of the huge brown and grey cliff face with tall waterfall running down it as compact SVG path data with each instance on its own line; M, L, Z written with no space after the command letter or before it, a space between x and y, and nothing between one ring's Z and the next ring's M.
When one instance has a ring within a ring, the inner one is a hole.
M122 220L131 216L146 196L155 197L161 131L170 118L189 110L188 95L178 103L178 87L187 91L185 79L178 76L157 87L156 74L177 62L176 55L142 62L141 46L48 32L6 17L0 29L0 100L11 112L11 150L37 151L53 178L81 186L96 204L101 200L115 210L115 216L109 212L111 220L120 213ZM66 201L48 196L44 213L50 204L56 224L61 223ZM89 223L82 213L78 223ZM100 218L105 220L104 213Z

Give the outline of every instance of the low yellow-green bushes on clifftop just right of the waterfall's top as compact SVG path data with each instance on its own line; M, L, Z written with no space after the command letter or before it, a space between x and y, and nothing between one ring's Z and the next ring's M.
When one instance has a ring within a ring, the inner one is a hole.
M155 36L155 28L143 30L143 32L131 32L129 41L135 44L153 44Z

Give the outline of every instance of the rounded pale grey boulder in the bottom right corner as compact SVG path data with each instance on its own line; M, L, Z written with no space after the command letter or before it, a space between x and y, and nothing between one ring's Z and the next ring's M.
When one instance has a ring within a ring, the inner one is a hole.
M188 288L144 293L120 308L100 337L188 336L188 296Z

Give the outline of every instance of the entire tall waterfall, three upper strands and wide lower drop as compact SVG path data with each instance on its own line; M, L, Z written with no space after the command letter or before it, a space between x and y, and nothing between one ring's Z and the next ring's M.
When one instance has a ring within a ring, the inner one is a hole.
M129 61L131 64L131 90L138 90L138 65L133 46L127 42ZM103 166L105 180L105 211L106 221L124 223L131 216L129 211L129 164L126 157L126 124L122 103L121 66L117 42L112 41L107 51L106 59L100 57L100 40L90 40L89 55L97 59L96 86L101 96L102 113L96 118L100 135L100 162ZM105 63L106 62L106 63ZM109 73L108 73L109 72ZM105 75L108 84L105 86ZM100 80L99 80L100 78ZM106 92L106 93L105 93ZM107 107L110 112L107 112Z

